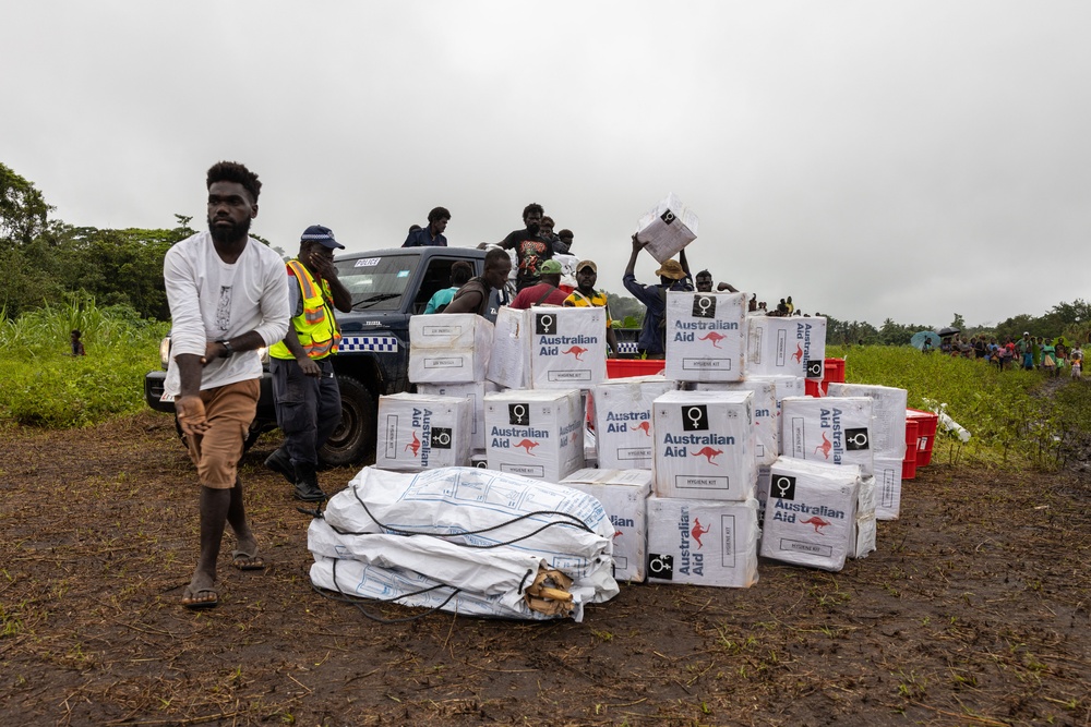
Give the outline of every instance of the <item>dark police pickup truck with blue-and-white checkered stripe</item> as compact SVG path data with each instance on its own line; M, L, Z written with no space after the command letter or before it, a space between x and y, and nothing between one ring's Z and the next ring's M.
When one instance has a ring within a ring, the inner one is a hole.
M352 294L352 312L337 313L341 341L334 371L341 393L341 421L320 450L332 467L375 461L375 431L381 395L410 389L409 316L421 314L437 290L451 284L451 266L467 260L473 275L484 269L484 251L471 247L394 247L340 255L337 277ZM144 399L161 412L175 404L163 400L169 339L160 347L161 371L144 377ZM264 356L264 354L263 354ZM249 448L276 428L268 366L262 376L257 415L250 425Z

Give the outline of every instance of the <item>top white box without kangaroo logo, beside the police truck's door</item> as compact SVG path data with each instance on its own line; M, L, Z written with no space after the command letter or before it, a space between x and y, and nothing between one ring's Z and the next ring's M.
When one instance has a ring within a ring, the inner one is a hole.
M489 366L493 325L475 313L409 318L409 380L413 384L480 381Z

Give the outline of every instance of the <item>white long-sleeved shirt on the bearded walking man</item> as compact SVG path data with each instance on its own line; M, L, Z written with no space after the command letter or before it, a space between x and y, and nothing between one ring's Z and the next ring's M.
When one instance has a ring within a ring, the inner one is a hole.
M284 260L253 238L233 264L220 259L208 232L197 232L167 251L163 279L170 304L170 362L164 392L178 396L181 379L175 356L203 356L207 341L251 330L265 346L288 332L288 274ZM202 369L201 389L260 378L257 351L216 359Z

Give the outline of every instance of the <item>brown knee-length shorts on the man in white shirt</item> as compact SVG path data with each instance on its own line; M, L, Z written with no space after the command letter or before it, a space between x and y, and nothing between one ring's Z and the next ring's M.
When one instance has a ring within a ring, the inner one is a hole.
M190 459L197 465L197 481L212 489L230 489L238 477L242 445L257 413L261 383L236 381L201 392L208 431L188 436Z

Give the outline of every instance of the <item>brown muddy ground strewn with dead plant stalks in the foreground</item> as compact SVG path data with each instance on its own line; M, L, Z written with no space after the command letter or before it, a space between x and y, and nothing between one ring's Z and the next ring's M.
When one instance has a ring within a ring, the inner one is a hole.
M169 417L0 433L0 724L1091 724L1086 475L934 463L840 573L623 585L583 623L381 625L311 589L308 518L261 465L276 444L242 468L269 567L221 556L220 606L192 613Z

